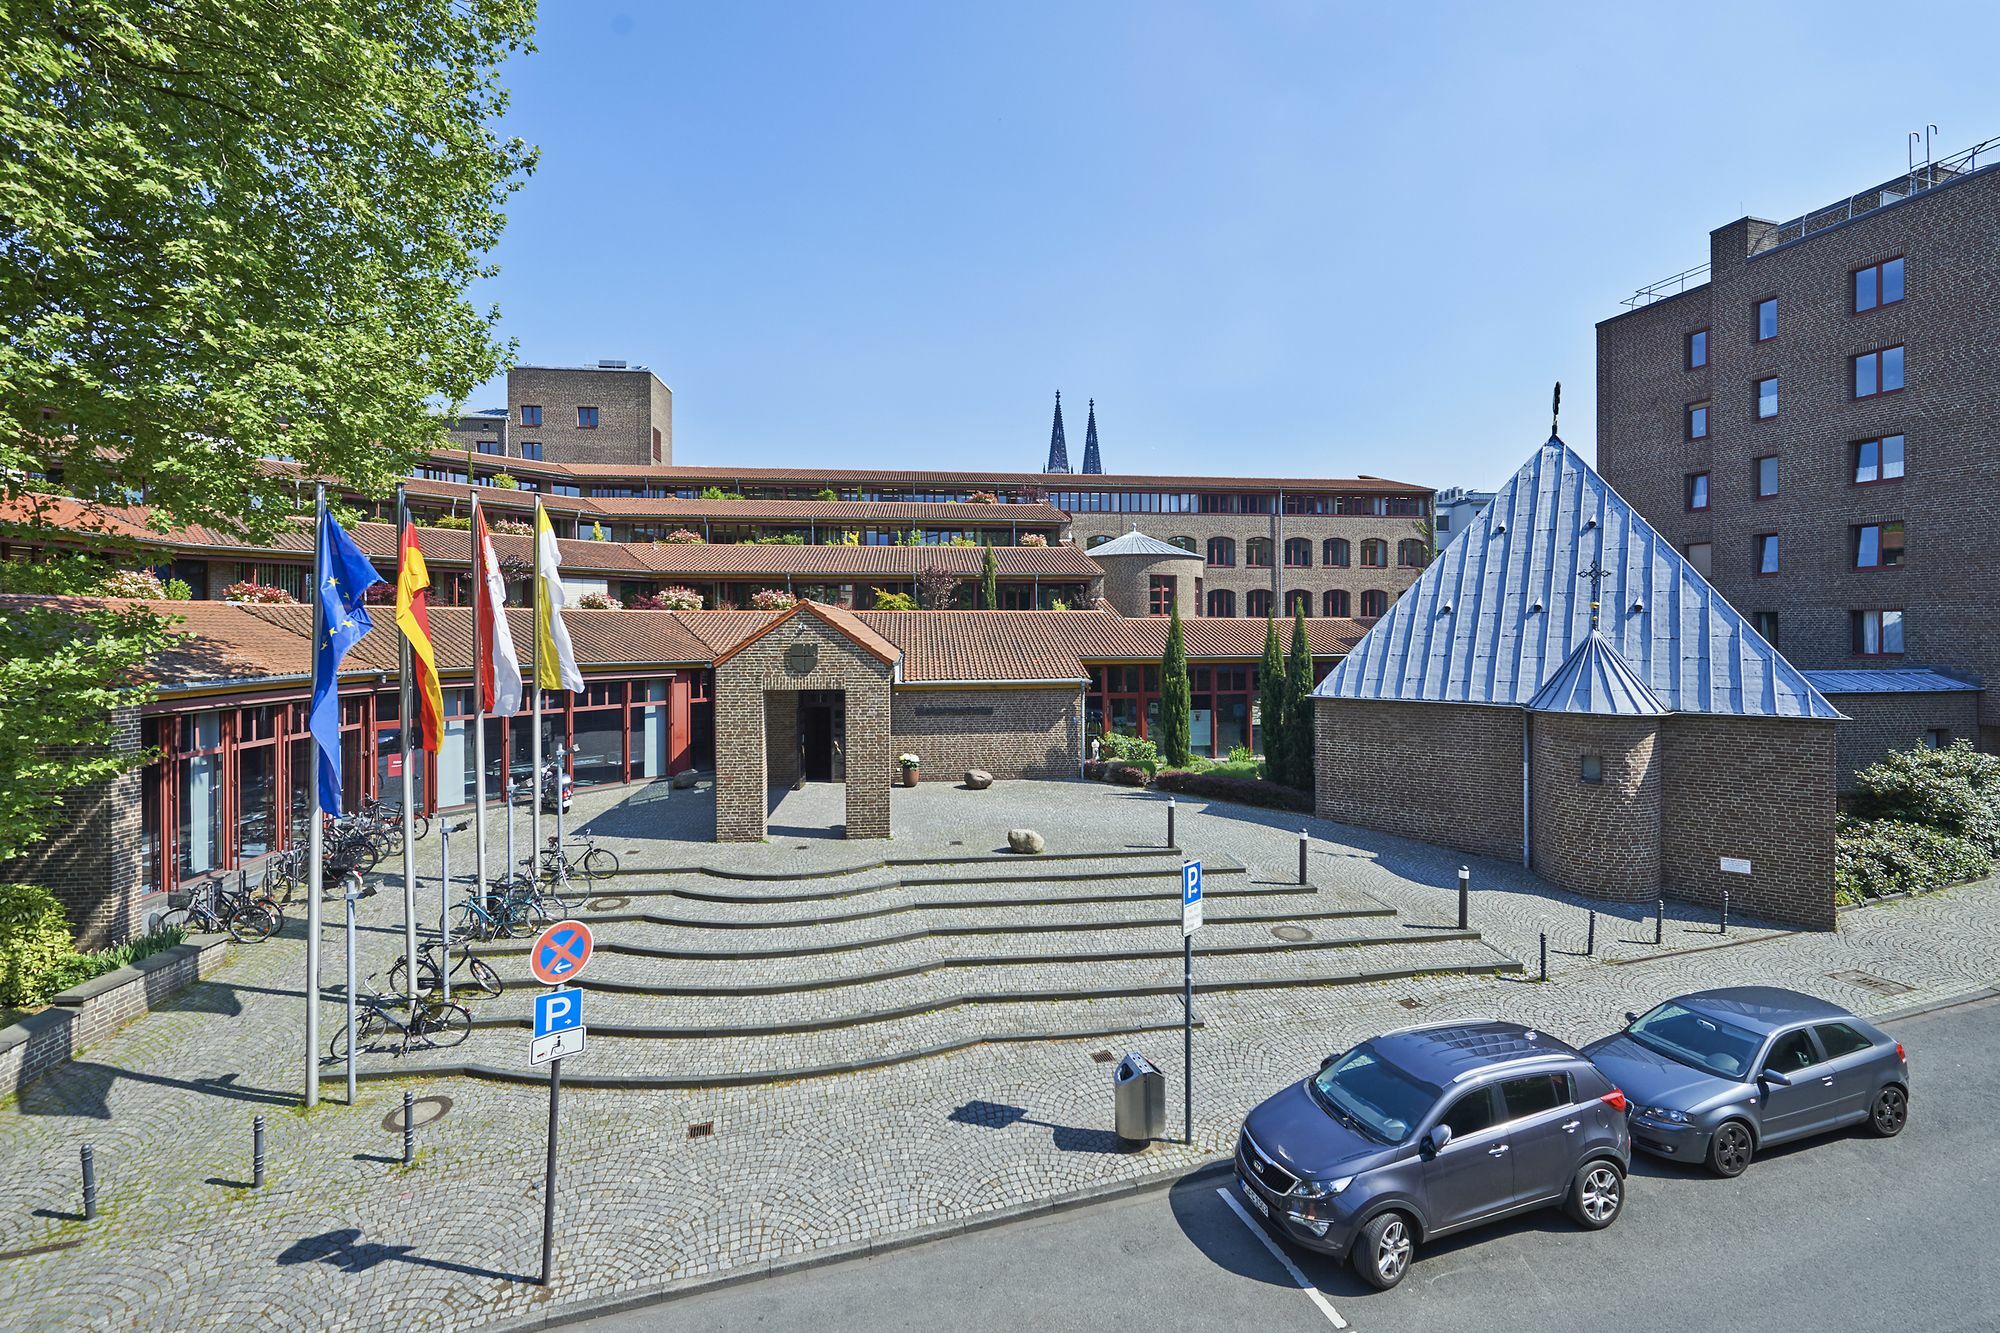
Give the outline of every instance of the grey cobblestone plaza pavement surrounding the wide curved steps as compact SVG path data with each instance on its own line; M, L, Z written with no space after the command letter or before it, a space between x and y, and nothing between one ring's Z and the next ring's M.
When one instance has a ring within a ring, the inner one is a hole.
M706 797L672 793L662 801L660 791L586 793L578 801L586 831L600 835L628 867L654 871L630 877L636 887L676 887L682 881L666 875L676 869L796 875L810 867L834 875L884 857L984 853L1008 827L1020 825L1042 831L1058 853L1158 849L1164 841L1164 801L1152 793L1004 783L988 793L948 785L898 791L898 837L890 843L826 841L826 825L838 817L838 789L806 789L776 807L774 837L766 845L690 845L674 835L706 833L704 821L712 819ZM1396 915L1334 921L1296 915L1286 921L1304 923L1316 939L1456 927L1460 859L1450 853L1204 801L1178 805L1178 843L1216 865L1242 865L1246 885L1282 885L1296 879L1302 823L1314 839L1310 869L1320 889L1314 899L1378 901ZM436 875L436 837L426 841L424 857ZM470 861L464 845L454 857ZM1062 865L1052 859L1018 875L1052 875ZM756 1271L814 1251L964 1223L1068 1191L1192 1165L1226 1151L1242 1111L1270 1089L1310 1069L1328 1049L1392 1025L1498 1013L1586 1039L1614 1025L1624 1009L1708 985L1792 985L1872 1013L1996 983L2000 881L1852 911L1832 935L1732 923L1724 937L1712 915L1670 905L1662 949L1652 945L1650 913L1604 913L1596 957L1584 957L1582 899L1552 893L1518 867L1490 861L1470 867L1476 885L1472 925L1486 941L1480 947L1532 969L1546 931L1550 985L1422 975L1376 985L1204 995L1198 1001L1204 1027L1196 1035L1192 1147L1158 1143L1128 1155L1108 1133L1108 1067L1094 1057L1142 1049L1178 1091L1180 1041L1170 1031L980 1045L780 1085L570 1091L562 1117L556 1283L548 1291L524 1281L538 1263L546 1093L532 1085L418 1075L364 1083L360 1105L344 1107L338 1105L338 1081L328 1073L324 1089L334 1103L298 1111L304 939L294 925L284 939L238 947L216 977L182 991L0 1107L0 1183L8 1199L0 1211L0 1309L6 1309L8 1327L24 1329L506 1325L548 1309ZM856 879L868 873L856 871ZM704 891L734 883L716 875L684 881ZM782 887L784 893L798 889L796 881ZM426 893L422 911L430 921L434 881ZM680 915L724 907L680 897L636 897L634 903L672 907ZM1224 909L1282 913L1284 905L1220 899L1216 915ZM398 911L400 887L388 883L366 901L362 935L370 971L400 953ZM1020 909L1004 919L1026 925L1044 913L1064 927L1088 925L1076 921L1076 907ZM1104 919L1126 913L1150 925L1144 933L1076 929L1062 935L1064 941L1114 949L1130 939L1150 949L1172 939L1170 925L1158 923L1158 913L1144 903L1090 905L1088 913ZM924 927L972 923L962 913L920 911L840 927L850 935L816 927L812 939L858 943L864 935L892 935L914 919ZM1202 943L1250 939L1256 929L1262 921L1244 929L1218 927ZM716 947L720 935L732 937L724 941L728 949L784 949L802 931L652 931L646 923L618 923L606 929L606 943L676 947L662 941L706 941L702 947ZM1032 941L1022 939L980 937L974 947L1032 955ZM1266 939L1272 937L1266 933ZM938 945L926 941L926 947ZM888 957L888 949L904 945L868 953ZM1264 957L1254 955L1244 967ZM642 977L634 971L642 959L606 953L592 965L592 977ZM496 961L518 975L518 955ZM780 977L774 969L792 963L818 967L798 957L790 963L756 959L738 981ZM1176 965L1158 965L1178 979ZM1230 957L1204 957L1198 971L1222 977L1228 975L1222 969L1236 965ZM688 967L704 969L688 977L714 977L708 965L690 961ZM1034 967L1006 965L1002 971ZM338 935L328 931L328 981L338 971ZM1108 965L1088 965L1088 971L1112 975ZM826 973L810 975L826 979ZM588 1003L592 1013L610 1015L624 1005L670 1011L678 1001L604 993ZM1078 1005L1102 1005L1110 1027L1138 1025L1162 1011L1170 1023L1176 1009L1170 997ZM524 1011L526 999L514 991L476 1005L482 1019ZM334 1007L324 1013L330 1031ZM858 1037L846 1029L814 1041L838 1051ZM464 1049L498 1045L524 1047L526 1033L480 1031ZM614 1045L616 1039L592 1037L590 1051L566 1073L582 1075L592 1061L614 1061ZM688 1041L684 1055L674 1059L696 1061L696 1053L706 1053L704 1065L748 1059L716 1041ZM1912 1051L1912 1059L1922 1067L1924 1053ZM400 1135L390 1121L404 1089L422 1099L414 1169L398 1163ZM1178 1097L1170 1103L1178 1105ZM258 1113L270 1121L270 1177L264 1191L250 1191L244 1185L250 1117ZM1178 1131L1178 1115L1170 1119L1170 1129ZM76 1217L76 1153L86 1143L96 1151L102 1187L102 1213L94 1223ZM20 1253L50 1245L62 1249Z

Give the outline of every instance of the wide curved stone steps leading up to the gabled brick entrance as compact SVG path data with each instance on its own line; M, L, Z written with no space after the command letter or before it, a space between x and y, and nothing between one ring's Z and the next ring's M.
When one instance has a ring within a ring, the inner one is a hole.
M1182 1023L1174 849L886 859L840 873L652 869L598 881L582 1087L812 1079L980 1043L1114 1039ZM1372 897L1204 859L1200 997L1520 971L1478 931L1412 925ZM446 1051L364 1055L364 1077L540 1081L528 943L474 945L500 973Z

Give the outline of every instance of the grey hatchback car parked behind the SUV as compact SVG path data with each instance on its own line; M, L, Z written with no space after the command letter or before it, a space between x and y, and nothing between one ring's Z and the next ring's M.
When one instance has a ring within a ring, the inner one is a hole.
M1680 995L1584 1047L1630 1101L1632 1147L1742 1175L1768 1145L1910 1119L1902 1043L1838 1005L1780 987Z

